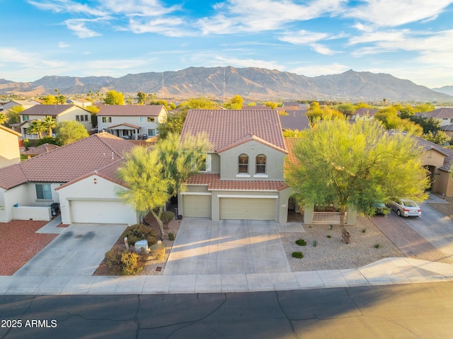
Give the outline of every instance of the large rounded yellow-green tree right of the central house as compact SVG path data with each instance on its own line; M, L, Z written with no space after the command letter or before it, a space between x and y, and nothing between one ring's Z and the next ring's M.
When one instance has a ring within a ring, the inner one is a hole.
M377 120L322 121L294 144L286 180L299 203L338 207L343 242L350 243L347 207L372 215L374 202L426 198L428 176L420 153L410 134L386 132Z

